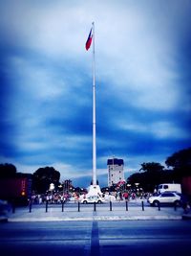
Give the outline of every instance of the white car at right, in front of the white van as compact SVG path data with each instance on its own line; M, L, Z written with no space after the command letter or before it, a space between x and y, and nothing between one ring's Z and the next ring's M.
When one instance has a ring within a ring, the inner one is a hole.
M158 206L159 204L180 205L180 195L175 192L164 192L158 196L148 198L147 201L154 206Z

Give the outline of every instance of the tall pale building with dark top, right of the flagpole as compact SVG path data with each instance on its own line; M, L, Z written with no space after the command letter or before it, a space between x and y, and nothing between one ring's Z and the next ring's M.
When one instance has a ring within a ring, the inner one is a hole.
M124 162L123 159L112 158L107 161L108 166L108 186L117 184L124 180Z

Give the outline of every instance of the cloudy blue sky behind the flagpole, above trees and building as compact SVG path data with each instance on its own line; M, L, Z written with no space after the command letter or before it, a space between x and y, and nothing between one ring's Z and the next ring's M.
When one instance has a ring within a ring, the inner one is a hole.
M97 177L124 159L164 164L191 146L191 2L0 1L0 162L92 178L92 49L96 29Z

